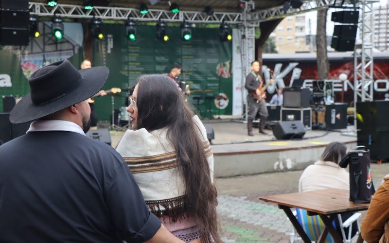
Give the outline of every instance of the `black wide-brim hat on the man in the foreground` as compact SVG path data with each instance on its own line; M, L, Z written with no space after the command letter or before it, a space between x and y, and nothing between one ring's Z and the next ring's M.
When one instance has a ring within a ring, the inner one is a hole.
M77 70L68 61L55 62L35 71L28 83L31 92L12 109L12 123L34 121L95 95L106 83L109 69Z

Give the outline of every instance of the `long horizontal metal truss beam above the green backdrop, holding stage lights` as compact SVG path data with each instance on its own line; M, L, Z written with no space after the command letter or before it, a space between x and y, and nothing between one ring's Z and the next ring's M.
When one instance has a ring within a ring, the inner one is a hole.
M49 7L41 2L29 2L29 10L31 15L35 16L53 16L70 17L70 18L101 18L112 20L126 20L131 18L136 21L158 21L166 22L182 22L188 21L191 23L221 23L238 24L243 22L242 13L223 13L215 12L208 16L203 12L195 11L180 11L173 14L170 11L149 9L147 14L140 14L139 9L120 8L120 7L99 7L95 6L92 10L84 10L83 6L58 4L55 7Z

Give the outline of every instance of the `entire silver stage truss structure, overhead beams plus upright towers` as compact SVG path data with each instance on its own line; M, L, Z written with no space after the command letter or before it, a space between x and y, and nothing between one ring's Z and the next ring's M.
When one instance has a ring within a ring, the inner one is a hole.
M242 60L242 121L247 121L248 105L247 92L245 86L246 76L250 72L250 63L255 59L255 28L261 22L269 21L287 16L303 14L329 7L341 8L358 7L362 10L362 17L358 24L362 36L362 43L356 45L354 49L354 106L358 98L361 101L372 101L373 87L373 55L372 44L374 33L372 28L373 8L372 3L377 0L307 0L303 1L300 8L289 8L286 12L283 5L269 9L256 10L252 0L241 0L245 3L242 13L215 12L208 16L204 12L179 11L171 13L167 10L149 9L147 14L140 14L139 9L122 7L100 7L94 6L92 10L84 10L83 6L58 4L49 7L45 3L29 2L30 14L39 17L68 18L100 18L110 20L126 20L130 18L134 21L156 21L188 23L220 24L223 21L229 24L236 24L241 32L241 60ZM367 91L368 90L368 91ZM356 126L355 126L356 127Z

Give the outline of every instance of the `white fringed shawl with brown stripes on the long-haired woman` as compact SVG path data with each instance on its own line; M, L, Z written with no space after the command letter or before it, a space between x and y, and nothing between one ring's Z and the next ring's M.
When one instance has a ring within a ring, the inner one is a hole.
M203 140L213 183L213 155L207 132L197 116L193 120ZM116 150L124 157L151 212L159 217L169 215L175 222L186 211L185 184L166 133L167 129L150 133L144 128L127 130Z

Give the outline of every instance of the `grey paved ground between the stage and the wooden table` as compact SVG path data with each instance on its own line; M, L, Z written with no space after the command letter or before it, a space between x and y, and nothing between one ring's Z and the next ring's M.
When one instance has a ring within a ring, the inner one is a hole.
M289 242L292 225L274 204L259 201L259 196L298 191L302 171L217 178L218 213L225 242ZM372 164L376 188L389 163ZM362 217L364 213L362 214Z

